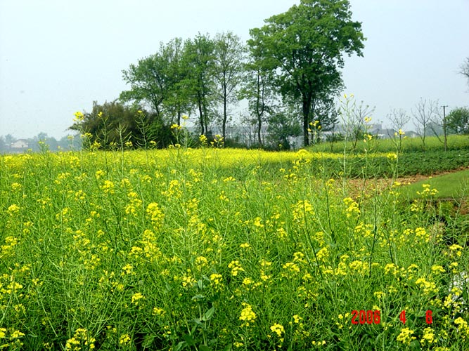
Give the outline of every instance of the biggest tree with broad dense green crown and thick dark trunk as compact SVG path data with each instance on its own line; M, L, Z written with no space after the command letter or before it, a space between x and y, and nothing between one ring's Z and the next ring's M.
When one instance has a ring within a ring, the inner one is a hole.
M302 107L304 145L309 145L316 106L342 87L344 53L362 55L361 23L351 18L348 0L301 0L260 28L266 54L276 62L283 97Z

